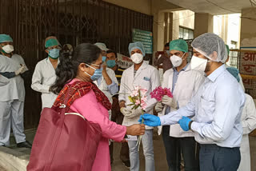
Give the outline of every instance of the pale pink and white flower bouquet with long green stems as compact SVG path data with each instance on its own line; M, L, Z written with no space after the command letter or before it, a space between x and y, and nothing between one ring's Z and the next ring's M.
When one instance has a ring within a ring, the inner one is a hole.
M131 102L130 104L130 106L132 106L131 109L138 109L138 107L140 107L142 109L142 114L144 113L144 109L146 109L146 101L147 101L146 92L147 92L147 89L142 89L141 86L135 86L135 89L132 90L132 93L128 97ZM143 122L144 121L142 120L142 123ZM136 146L138 146L138 151L139 151L139 146L141 145L141 141L142 141L142 135L138 137L138 141L136 144Z

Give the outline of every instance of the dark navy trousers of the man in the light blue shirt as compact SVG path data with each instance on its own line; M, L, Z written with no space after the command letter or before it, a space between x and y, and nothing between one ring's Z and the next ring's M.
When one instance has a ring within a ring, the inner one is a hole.
M240 165L240 149L218 145L200 145L201 171L236 171Z

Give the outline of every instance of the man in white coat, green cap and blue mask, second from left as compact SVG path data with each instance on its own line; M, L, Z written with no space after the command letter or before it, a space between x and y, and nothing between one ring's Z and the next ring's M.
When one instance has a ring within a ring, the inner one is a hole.
M42 109L51 108L57 98L50 86L56 81L55 70L59 63L60 44L54 36L46 38L45 42L47 58L38 62L32 77L31 88L42 93Z

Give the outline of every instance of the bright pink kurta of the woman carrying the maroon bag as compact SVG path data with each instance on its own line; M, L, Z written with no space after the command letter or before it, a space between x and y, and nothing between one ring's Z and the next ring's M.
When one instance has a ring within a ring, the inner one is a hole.
M73 80L71 83L73 83ZM82 114L86 120L97 123L102 128L102 139L98 144L92 171L110 171L110 150L108 139L122 141L126 134L126 126L118 125L109 120L107 109L98 102L93 90L78 98L70 106L76 113Z

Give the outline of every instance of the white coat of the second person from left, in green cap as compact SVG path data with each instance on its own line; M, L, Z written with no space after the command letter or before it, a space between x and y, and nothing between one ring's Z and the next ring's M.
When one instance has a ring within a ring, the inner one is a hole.
M31 88L42 93L42 109L45 107L51 108L58 97L57 94L49 91L50 85L53 85L55 81L56 74L50 60L45 58L38 62L34 69Z

